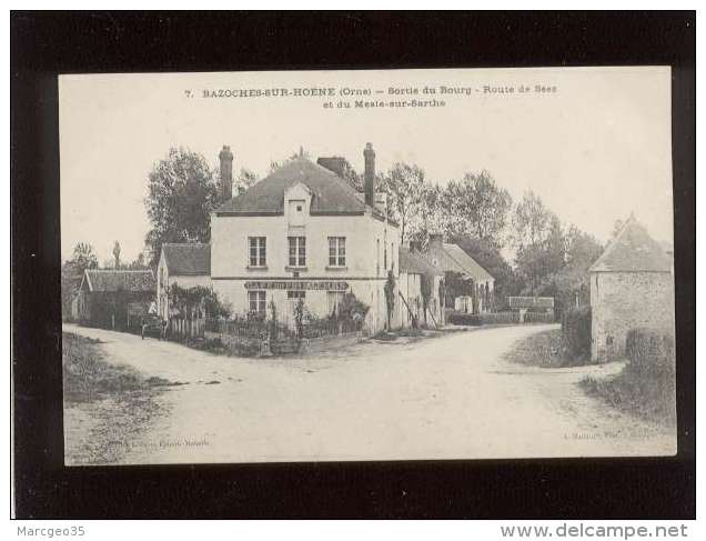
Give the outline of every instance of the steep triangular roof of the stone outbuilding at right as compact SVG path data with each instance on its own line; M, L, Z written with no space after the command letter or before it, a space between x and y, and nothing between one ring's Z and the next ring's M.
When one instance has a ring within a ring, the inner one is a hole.
M588 272L669 272L672 262L659 243L634 218L591 266Z

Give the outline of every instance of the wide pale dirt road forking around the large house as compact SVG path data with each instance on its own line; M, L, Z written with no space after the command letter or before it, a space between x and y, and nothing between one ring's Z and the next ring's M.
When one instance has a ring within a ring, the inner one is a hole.
M335 355L286 359L219 357L73 325L64 331L103 341L110 362L183 383L155 397L161 413L111 454L119 463L673 454L674 433L576 384L619 364L539 369L503 359L515 340L552 327L366 342ZM67 433L94 438L132 414L67 411Z

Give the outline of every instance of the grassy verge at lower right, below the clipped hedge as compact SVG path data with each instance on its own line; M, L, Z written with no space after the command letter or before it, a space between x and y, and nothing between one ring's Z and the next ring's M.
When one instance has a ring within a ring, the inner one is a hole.
M643 371L628 363L617 375L586 377L579 385L618 410L664 425L676 425L676 381L668 370Z

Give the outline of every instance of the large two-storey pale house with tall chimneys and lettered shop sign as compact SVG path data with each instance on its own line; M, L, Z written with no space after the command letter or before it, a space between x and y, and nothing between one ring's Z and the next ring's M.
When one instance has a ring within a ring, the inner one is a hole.
M210 278L233 313L293 318L300 299L316 317L331 314L352 292L370 307L365 327L386 327L384 285L400 278L400 228L374 189L375 152L364 149L364 191L336 172L299 156L211 216ZM232 188L232 159L221 158L222 190ZM169 257L167 258L169 259ZM391 327L399 327L396 300Z

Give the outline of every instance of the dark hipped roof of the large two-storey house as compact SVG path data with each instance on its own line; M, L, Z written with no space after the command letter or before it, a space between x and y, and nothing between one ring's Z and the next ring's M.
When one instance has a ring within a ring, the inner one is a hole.
M297 157L219 207L216 214L282 214L284 192L302 182L312 191L312 214L362 214L365 203L337 174Z

